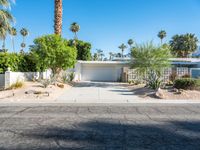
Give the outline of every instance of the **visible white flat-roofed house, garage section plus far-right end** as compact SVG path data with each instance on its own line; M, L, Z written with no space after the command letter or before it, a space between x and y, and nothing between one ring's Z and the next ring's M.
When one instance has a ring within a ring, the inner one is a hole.
M193 77L200 77L200 59L172 58L172 65L188 68ZM129 68L130 60L121 61L78 61L75 66L76 81L122 81L125 69Z

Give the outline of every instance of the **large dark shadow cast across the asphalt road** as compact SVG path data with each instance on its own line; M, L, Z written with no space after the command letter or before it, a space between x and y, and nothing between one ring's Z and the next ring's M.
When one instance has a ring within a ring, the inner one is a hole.
M40 141L38 145L26 145L26 149L29 150L198 150L200 149L200 122L130 124L89 121L76 124L71 128L44 126L24 130L20 136ZM56 146L48 147L48 143L56 143ZM1 149L5 148L1 147Z

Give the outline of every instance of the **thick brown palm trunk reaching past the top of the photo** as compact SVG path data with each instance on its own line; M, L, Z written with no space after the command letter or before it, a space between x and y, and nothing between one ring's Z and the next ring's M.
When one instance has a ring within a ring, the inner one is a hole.
M62 34L62 0L54 0L55 10L54 10L54 33L61 35Z

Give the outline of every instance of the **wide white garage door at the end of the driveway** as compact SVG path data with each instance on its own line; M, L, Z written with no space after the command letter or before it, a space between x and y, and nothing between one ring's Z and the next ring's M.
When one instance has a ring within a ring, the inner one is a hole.
M82 81L116 82L120 79L121 68L115 66L83 65Z

